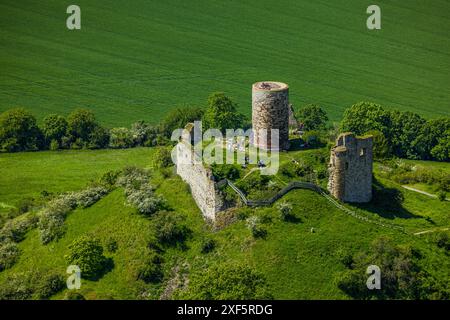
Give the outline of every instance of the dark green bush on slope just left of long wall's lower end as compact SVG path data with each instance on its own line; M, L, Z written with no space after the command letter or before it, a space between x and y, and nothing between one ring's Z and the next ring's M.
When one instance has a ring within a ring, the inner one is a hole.
M184 219L172 212L163 211L153 219L156 239L161 244L183 244L189 237L190 229L182 224Z

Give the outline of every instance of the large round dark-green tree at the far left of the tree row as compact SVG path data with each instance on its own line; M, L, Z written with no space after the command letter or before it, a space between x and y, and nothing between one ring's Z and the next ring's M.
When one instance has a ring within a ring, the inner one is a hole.
M0 151L38 150L42 142L42 132L30 112L16 108L0 114Z

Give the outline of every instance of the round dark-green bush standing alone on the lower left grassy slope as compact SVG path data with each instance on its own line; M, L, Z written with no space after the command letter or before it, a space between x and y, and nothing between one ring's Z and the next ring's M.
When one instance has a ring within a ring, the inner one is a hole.
M69 253L65 258L69 264L80 268L83 278L92 280L105 271L107 264L100 241L88 236L75 239L69 246Z

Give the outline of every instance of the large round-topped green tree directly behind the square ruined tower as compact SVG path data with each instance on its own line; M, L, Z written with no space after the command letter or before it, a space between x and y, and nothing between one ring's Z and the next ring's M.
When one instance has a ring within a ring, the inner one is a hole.
M391 117L389 111L372 102L354 104L344 112L341 131L362 135L370 130L378 130L390 140Z

